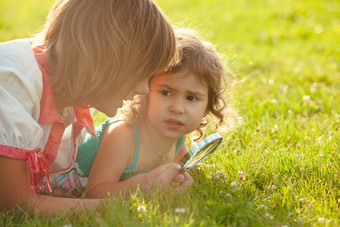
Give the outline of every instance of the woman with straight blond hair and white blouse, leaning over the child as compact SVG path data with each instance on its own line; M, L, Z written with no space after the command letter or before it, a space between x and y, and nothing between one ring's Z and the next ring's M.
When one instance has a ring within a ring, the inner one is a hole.
M174 52L173 29L152 0L59 0L40 34L0 44L1 208L98 205L40 195L39 181L67 171L84 130L94 134L89 107L114 116L121 100L147 94ZM147 183L171 183L179 169L163 165Z

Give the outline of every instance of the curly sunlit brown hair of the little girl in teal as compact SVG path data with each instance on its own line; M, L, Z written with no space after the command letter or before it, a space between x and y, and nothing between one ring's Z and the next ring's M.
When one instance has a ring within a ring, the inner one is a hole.
M207 114L214 115L218 122L216 128L224 123L227 117L229 127L235 126L238 119L236 111L231 108L231 100L226 101L227 86L231 85L233 74L227 70L222 57L209 42L198 38L196 32L191 29L177 28L176 34L176 59L169 68L162 74L173 74L183 70L198 76L203 84L208 86L208 107ZM228 111L226 111L228 107ZM136 96L132 103L127 103L122 110L123 114L132 122L146 117L147 98ZM203 128L207 125L208 119L203 119L197 129L199 139Z

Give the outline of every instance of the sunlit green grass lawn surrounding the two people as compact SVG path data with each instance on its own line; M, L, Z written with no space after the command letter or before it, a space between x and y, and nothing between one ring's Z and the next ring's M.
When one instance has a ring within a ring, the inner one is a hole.
M340 226L340 3L157 2L174 24L198 29L228 57L243 124L191 172L196 183L185 192L137 191L99 212L55 218L13 210L0 213L0 223ZM0 41L38 32L52 3L0 0Z

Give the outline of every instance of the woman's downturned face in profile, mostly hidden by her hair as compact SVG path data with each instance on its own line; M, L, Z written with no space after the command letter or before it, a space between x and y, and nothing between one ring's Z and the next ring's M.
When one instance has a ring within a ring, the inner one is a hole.
M118 108L123 105L123 100L132 100L135 95L147 95L149 93L148 79L140 83L133 91L128 94L117 94L116 96L107 99L106 101L94 105L93 107L104 113L108 117L114 117Z

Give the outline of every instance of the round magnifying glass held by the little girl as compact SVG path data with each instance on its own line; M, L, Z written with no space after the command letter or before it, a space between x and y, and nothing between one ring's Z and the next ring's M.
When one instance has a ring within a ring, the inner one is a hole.
M222 140L222 136L217 132L205 137L184 155L179 164L183 167L184 171L191 169L212 154L222 143Z

